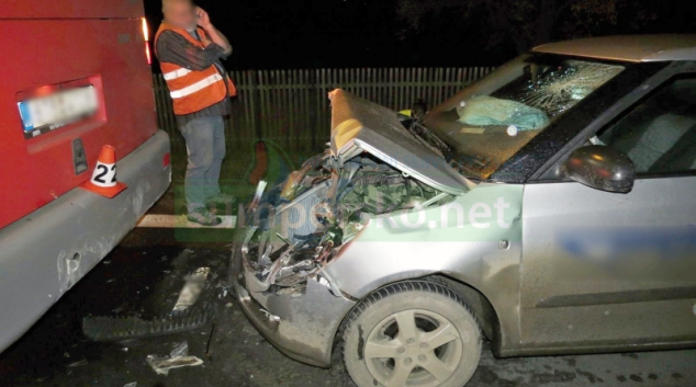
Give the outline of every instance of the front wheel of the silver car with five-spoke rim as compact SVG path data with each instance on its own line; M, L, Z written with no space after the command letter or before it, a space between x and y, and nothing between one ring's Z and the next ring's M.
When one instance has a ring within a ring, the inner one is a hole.
M463 299L428 281L388 285L348 315L344 363L358 387L461 387L481 358L481 329Z

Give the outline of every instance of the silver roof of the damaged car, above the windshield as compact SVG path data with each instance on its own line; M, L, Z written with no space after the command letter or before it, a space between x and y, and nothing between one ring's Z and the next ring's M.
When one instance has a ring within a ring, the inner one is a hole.
M696 35L627 35L548 43L534 53L624 60L696 60Z

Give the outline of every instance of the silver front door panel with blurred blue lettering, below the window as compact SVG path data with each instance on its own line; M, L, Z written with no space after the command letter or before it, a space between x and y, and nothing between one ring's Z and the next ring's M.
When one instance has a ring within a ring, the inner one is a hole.
M694 343L695 187L696 177L638 179L628 194L576 182L528 184L526 352Z

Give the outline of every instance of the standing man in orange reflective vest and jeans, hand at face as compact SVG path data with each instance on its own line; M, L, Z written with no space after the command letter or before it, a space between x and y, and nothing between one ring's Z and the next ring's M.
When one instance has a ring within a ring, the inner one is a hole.
M188 219L216 226L221 219L209 206L235 201L220 191L225 158L223 116L229 114L229 98L237 93L221 59L232 54L232 46L213 26L207 12L191 0L162 0L162 13L165 21L155 35L155 54L189 155Z

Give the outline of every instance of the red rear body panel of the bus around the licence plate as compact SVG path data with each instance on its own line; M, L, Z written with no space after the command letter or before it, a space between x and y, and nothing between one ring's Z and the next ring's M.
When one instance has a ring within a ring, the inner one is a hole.
M141 19L0 20L7 60L0 82L0 228L91 178L103 145L125 157L157 130L151 72ZM96 84L101 111L90 119L26 139L18 109L44 87ZM76 174L74 140L88 170Z

